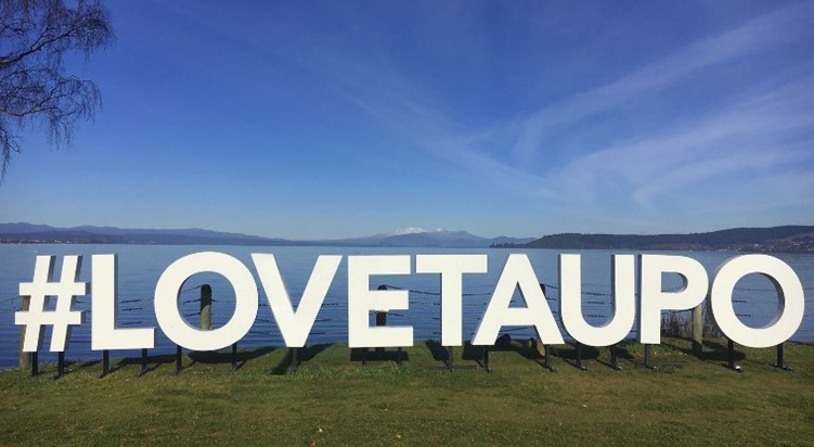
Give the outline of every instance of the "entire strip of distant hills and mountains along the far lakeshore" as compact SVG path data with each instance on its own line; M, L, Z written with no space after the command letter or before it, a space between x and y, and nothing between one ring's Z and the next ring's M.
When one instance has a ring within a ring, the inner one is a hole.
M199 228L155 230L82 226L0 224L0 243L256 245L256 246L392 246L437 248L557 248L557 250L692 250L733 252L814 253L814 226L736 228L690 234L552 234L534 238L481 238L466 231L406 228L365 238L293 241Z

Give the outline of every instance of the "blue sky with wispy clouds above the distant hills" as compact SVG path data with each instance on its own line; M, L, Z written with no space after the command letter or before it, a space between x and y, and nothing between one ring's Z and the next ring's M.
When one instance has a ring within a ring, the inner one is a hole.
M814 2L125 1L0 221L339 239L814 224Z

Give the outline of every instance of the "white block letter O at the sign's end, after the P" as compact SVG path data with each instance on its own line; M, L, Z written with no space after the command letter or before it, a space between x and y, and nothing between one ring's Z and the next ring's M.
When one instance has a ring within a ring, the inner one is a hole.
M732 304L735 284L745 276L760 273L777 291L777 312L763 328L744 324ZM734 342L748 347L770 347L791 337L803 320L803 285L786 263L767 255L744 255L726 260L715 272L712 283L712 316L721 331Z

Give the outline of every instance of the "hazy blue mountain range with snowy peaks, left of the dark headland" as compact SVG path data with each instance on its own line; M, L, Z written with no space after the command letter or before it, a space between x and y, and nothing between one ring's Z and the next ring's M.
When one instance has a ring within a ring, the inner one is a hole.
M140 245L333 245L333 246L399 246L441 248L484 248L500 243L527 243L534 238L487 239L465 231L425 231L409 228L389 234L366 238L292 241L257 235L229 233L198 228L181 230L121 229L82 226L55 228L47 225L0 224L0 243L67 243L67 244L140 244Z

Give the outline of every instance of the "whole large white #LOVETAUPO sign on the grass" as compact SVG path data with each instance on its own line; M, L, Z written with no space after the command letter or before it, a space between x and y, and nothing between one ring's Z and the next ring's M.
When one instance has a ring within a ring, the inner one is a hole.
M251 260L268 296L285 345L305 346L311 328L336 276L341 256L320 256L295 309L272 254L253 254ZM348 345L350 347L397 347L413 345L410 325L371 327L372 311L408 310L409 291L371 290L370 279L380 274L435 273L440 281L441 344L463 344L463 284L467 274L487 273L487 255L416 255L415 269L409 255L349 256ZM74 296L90 289L92 295L91 348L133 349L155 346L155 328L116 327L116 255L92 256L92 288L78 281L81 258L65 256L59 281L53 280L53 256L38 256L31 282L20 284L20 294L30 296L28 310L17 311L15 323L27 328L23 348L40 348L41 329L52 325L52 352L64 352L70 325L80 324L81 311L72 309ZM638 267L638 283L636 282ZM638 324L638 341L660 343L662 310L690 309L711 299L712 315L721 331L734 342L750 347L768 347L788 340L800 327L804 295L800 279L784 261L767 255L744 255L724 261L712 279L697 260L686 256L615 255L612 269L612 317L592 325L582 312L580 255L559 256L559 316L573 340L589 346L608 346L622 341ZM215 272L234 288L232 318L222 327L204 331L193 328L180 311L180 291L194 274ZM680 290L664 291L666 273L683 279ZM778 299L774 319L763 328L744 324L733 308L735 284L748 274L762 274L775 286ZM525 307L509 306L516 290ZM638 295L638 299L637 299ZM57 303L46 309L49 297ZM194 350L212 350L240 341L257 318L259 294L249 268L222 253L203 252L172 263L155 288L155 315L159 328L176 344ZM636 311L637 310L637 311ZM636 316L638 319L636 320ZM557 322L540 288L529 258L512 254L471 343L492 345L504 325L533 327L544 344L564 343Z

